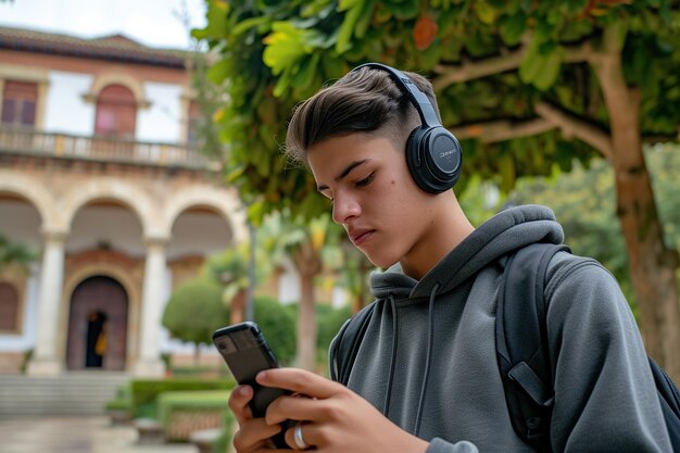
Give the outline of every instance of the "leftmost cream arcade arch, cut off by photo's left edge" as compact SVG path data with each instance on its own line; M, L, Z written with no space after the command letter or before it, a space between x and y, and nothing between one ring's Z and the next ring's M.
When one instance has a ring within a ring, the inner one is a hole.
M26 199L38 211L43 231L67 231L63 229L62 212L52 193L38 178L0 171L0 192L10 192Z

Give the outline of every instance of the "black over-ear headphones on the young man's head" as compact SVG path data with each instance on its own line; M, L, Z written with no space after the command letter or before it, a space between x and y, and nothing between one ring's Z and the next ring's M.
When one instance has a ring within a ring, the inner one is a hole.
M406 140L406 163L418 187L430 193L451 189L461 175L463 153L455 136L439 122L430 100L401 71L380 63L362 64L352 71L361 67L388 73L418 111L421 126L415 128Z

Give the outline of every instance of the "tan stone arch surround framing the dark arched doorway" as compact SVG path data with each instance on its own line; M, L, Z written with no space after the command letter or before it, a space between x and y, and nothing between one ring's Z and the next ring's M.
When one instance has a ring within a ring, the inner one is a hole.
M128 303L128 312L127 312L127 353L125 358L125 367L126 369L131 369L135 360L136 352L138 348L137 343L137 335L139 331L139 313L141 312L141 291L139 288L139 284L134 280L130 276L130 272L128 268L122 266L118 263L112 262L98 262L95 264L89 264L83 266L80 268L75 269L73 273L70 273L64 278L64 286L62 290L62 310L60 312L60 350L59 350L59 361L63 362L66 357L66 342L67 342L67 329L68 329L68 315L71 313L71 295L75 291L75 289L83 281L88 279L89 277L95 276L104 276L110 277L116 280L127 292L127 303Z

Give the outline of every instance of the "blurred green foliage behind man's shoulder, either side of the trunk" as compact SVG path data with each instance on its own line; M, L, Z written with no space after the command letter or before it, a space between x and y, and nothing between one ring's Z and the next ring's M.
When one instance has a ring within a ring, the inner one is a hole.
M676 183L680 173L680 148L647 147L645 161L654 175L654 187L663 219L665 241L680 249L680 190ZM595 159L588 168L575 165L569 174L550 178L526 178L509 197L512 204L538 203L553 209L563 225L566 241L576 254L593 256L607 267L620 282L631 304L637 306L625 253L620 225L615 221L616 200L612 167Z

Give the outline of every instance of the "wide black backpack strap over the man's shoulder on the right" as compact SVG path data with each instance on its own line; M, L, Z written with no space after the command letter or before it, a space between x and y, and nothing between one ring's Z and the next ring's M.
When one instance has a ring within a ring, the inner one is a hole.
M538 451L550 452L553 379L547 355L547 264L562 244L534 243L509 255L496 305L496 358L513 428Z

